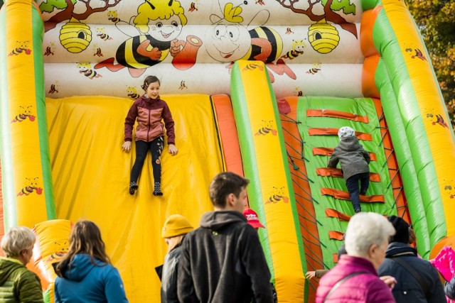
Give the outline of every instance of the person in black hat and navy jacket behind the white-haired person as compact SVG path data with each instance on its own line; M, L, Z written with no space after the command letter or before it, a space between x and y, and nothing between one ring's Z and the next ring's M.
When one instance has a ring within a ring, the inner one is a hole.
M417 258L417 250L408 244L409 224L397 216L389 216L388 220L396 233L385 250L385 260L378 269L378 275L395 277L397 284L392 293L397 303L445 303L444 288L437 270L429 261ZM400 260L405 265L401 265Z

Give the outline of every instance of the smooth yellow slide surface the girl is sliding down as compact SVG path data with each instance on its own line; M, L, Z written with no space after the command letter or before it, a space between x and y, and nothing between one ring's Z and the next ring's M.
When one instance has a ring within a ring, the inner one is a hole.
M161 228L182 214L196 228L213 206L208 184L223 170L210 98L162 96L176 122L178 154L164 147L163 197L154 197L150 153L139 190L128 192L132 153L124 153L124 118L132 100L115 97L46 99L50 162L59 219L100 226L107 253L119 269L130 302L160 302L154 268L166 255ZM166 138L167 140L167 138Z

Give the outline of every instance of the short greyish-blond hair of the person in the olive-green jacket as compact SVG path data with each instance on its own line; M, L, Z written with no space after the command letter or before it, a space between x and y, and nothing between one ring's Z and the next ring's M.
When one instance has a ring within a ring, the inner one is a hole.
M16 257L21 251L31 248L35 244L36 236L33 231L26 226L12 227L3 238L1 238L1 249L7 257Z

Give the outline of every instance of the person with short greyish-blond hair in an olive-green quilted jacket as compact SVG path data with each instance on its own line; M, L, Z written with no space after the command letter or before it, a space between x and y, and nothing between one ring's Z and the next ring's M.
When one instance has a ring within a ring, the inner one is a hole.
M25 226L11 228L1 239L0 301L43 303L41 282L35 272L26 268L33 256L36 236Z

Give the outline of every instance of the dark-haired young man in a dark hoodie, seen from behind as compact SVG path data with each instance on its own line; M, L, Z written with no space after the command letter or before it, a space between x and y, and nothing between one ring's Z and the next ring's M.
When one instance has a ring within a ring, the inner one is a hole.
M223 172L210 183L215 211L183 240L178 265L180 302L274 302L270 272L255 228L242 212L249 180Z

